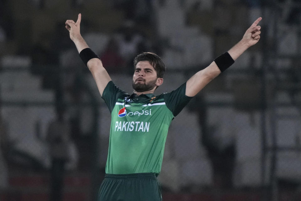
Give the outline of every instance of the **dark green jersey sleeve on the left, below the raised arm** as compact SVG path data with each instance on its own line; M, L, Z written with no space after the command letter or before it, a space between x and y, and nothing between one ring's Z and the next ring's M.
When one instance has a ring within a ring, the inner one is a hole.
M103 90L102 99L107 104L109 111L112 113L117 100L126 96L128 96L128 94L119 89L119 87L117 87L111 80Z

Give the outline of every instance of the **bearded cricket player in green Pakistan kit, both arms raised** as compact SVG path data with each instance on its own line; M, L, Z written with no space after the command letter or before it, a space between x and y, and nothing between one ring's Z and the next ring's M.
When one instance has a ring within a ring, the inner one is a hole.
M82 38L81 14L76 22L66 21L70 38L112 115L106 175L99 190L99 200L162 200L156 177L161 171L172 119L204 86L259 41L261 27L257 24L260 20L258 18L235 46L214 59L207 68L195 73L176 90L161 95L154 95L163 83L165 72L160 57L151 52L135 57L134 92L129 95L115 86L98 56Z

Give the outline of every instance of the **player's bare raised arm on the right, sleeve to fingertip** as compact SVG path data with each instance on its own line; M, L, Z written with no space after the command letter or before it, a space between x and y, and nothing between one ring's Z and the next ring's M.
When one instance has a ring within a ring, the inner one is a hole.
M256 19L256 21L249 27L249 29L246 30L246 33L244 34L242 39L228 51L230 59L232 57L232 59L235 61L243 52L245 52L249 47L255 45L259 41L261 27L257 26L257 24L260 22L260 20L261 17ZM220 59L217 60L218 58ZM224 57L218 58L215 59L215 61L213 61L208 67L204 68L201 71L198 71L190 79L187 80L185 95L195 96L211 80L216 78L221 73L220 69L225 69L225 67L223 66L224 64L221 62L223 62L224 59L228 59L227 54L224 54Z

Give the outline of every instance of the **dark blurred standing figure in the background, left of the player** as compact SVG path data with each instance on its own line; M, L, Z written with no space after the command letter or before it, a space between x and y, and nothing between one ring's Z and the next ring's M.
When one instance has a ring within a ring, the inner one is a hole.
M69 160L69 144L71 129L66 121L63 108L57 110L57 119L50 122L47 141L50 145L51 194L50 201L60 201L63 198L63 179L65 164Z

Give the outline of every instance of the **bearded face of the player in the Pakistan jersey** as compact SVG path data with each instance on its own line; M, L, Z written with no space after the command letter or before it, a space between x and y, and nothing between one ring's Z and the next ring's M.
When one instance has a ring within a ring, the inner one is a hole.
M140 61L137 63L132 86L137 92L149 91L157 86L157 72L150 62Z

